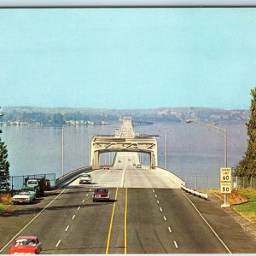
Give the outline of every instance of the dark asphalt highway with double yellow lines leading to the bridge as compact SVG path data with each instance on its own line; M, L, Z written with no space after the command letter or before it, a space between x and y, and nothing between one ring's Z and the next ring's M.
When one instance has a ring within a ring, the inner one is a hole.
M109 186L111 201L92 202L93 188L106 182L100 183L107 172L92 172L90 185L76 180L32 205L2 212L0 253L8 252L15 236L28 235L38 236L44 254L256 253L255 236L215 197L206 201L150 182L125 187L119 180Z

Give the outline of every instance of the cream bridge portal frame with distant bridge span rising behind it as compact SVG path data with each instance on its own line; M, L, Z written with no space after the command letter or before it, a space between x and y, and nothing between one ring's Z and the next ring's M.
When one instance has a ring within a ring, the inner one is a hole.
M99 166L100 154L115 152L113 166L118 166L120 159L129 160L133 166L139 164L137 153L149 154L150 168L155 169L157 162L157 141L155 137L139 136L132 127L130 117L123 119L121 128L115 130L114 136L94 136L90 144L90 166ZM127 163L126 163L127 164Z

